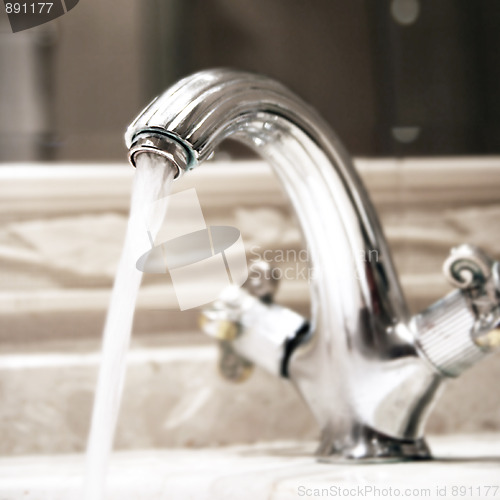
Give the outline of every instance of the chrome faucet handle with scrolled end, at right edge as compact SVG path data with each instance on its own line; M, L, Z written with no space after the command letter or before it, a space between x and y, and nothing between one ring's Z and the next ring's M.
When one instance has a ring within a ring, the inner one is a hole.
M417 315L417 344L439 373L457 377L500 346L499 263L472 245L453 248L443 272L457 290Z

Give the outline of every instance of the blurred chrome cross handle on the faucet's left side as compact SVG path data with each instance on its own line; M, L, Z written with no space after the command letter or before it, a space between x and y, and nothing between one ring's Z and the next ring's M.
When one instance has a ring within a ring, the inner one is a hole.
M245 380L254 362L286 377L289 357L308 333L309 323L273 303L278 280L267 262L252 262L248 275L241 288L226 288L202 311L200 326L219 341L219 369L227 380Z

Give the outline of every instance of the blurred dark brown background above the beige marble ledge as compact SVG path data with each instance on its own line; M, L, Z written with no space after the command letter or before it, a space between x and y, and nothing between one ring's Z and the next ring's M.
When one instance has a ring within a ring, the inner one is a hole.
M0 161L124 161L132 118L213 66L279 79L356 156L500 153L499 0L81 0L16 34L2 11Z

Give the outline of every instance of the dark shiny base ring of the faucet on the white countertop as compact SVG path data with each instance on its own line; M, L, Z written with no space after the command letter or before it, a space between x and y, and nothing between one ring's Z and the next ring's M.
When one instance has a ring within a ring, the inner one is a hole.
M349 442L341 446L323 432L316 451L322 463L380 463L405 460L430 460L432 455L424 438L402 440L381 434L367 426L357 426Z

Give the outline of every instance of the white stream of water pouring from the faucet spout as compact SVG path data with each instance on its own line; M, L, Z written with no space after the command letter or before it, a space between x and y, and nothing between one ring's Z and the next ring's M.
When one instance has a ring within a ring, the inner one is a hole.
M155 202L168 195L175 174L167 160L158 155L142 153L136 164L127 234L103 334L101 367L87 443L84 500L104 498L107 465L125 380L126 354L142 279L135 264L151 248L151 241L161 227L166 202ZM148 213L153 204L155 213Z

